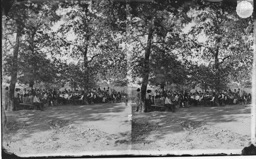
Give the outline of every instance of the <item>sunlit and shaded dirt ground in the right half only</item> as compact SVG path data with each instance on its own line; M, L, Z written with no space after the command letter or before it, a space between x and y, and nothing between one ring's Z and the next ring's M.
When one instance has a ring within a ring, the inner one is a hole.
M241 154L250 142L250 105L134 110L132 148L141 154Z

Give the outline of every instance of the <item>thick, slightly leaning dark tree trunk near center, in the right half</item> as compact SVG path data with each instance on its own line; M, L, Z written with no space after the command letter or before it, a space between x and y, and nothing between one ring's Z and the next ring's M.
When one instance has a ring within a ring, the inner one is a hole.
M142 76L141 85L141 101L142 101L142 111L145 110L145 95L146 87L148 83L148 75L150 74L150 52L151 52L151 39L153 36L153 26L148 29L147 43L145 49L145 59L144 59L144 72Z

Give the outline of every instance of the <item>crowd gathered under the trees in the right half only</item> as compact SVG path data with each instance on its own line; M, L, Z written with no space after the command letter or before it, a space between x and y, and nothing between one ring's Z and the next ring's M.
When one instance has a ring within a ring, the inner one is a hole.
M159 92L155 90L155 93L152 93L152 90L146 90L145 94L145 108L144 112L150 112L156 110L152 105L157 106L165 106L168 110L172 110L175 112L175 109L180 107L191 107L191 106L198 106L203 105L207 106L208 104L212 103L214 105L216 101L216 93L209 91L201 92L197 91L195 93L191 93L188 91L180 91L177 90L164 90ZM219 95L219 104L250 104L251 103L251 94L247 94L238 89L234 89L232 92L231 89L229 90L222 90ZM136 93L136 111L142 109L141 103L141 93L140 88L137 89Z

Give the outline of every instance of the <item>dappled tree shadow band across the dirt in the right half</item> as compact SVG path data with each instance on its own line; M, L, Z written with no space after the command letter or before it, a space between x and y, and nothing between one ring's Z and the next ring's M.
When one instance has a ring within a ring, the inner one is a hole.
M175 113L161 111L138 113L134 111L135 105L133 105L132 110L133 143L151 142L152 134L154 134L154 140L165 139L166 135L186 132L188 128L201 127L206 123L237 122L239 119L250 121L248 120L250 118L250 105L188 107L179 108Z

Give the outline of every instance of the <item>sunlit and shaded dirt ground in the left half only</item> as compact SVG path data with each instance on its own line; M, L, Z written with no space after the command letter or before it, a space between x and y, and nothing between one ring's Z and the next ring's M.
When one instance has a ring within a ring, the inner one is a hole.
M18 156L125 152L131 149L130 113L124 103L6 112L2 144Z

